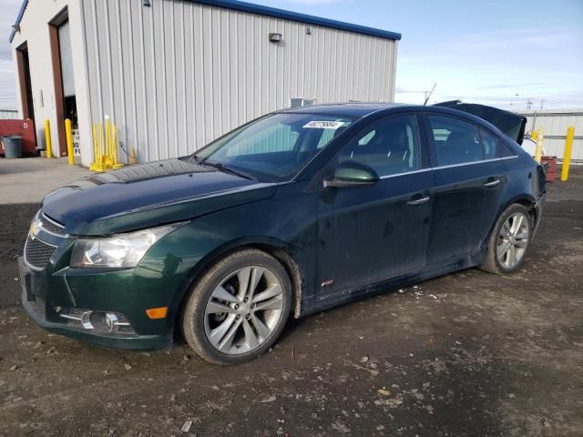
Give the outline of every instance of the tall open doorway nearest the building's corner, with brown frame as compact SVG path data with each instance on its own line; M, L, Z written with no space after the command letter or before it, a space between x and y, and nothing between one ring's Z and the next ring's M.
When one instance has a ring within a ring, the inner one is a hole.
M53 76L55 78L56 131L59 157L66 156L65 119L69 118L77 129L77 100L73 76L73 53L67 10L56 15L49 24Z

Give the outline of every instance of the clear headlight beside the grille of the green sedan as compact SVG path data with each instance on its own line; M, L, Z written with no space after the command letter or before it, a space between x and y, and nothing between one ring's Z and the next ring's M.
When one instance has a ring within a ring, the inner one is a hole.
M136 267L156 241L183 224L142 229L103 239L77 239L71 254L71 267Z

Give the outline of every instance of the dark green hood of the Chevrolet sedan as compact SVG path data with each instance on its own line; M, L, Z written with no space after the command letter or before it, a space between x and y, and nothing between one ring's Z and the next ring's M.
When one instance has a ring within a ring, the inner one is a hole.
M276 184L168 159L80 179L47 194L42 208L68 234L107 235L194 219L270 198L276 189Z

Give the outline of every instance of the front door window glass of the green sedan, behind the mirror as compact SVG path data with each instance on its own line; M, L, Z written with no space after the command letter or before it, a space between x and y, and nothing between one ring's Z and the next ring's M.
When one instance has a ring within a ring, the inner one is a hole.
M413 115L387 117L366 127L340 152L339 163L354 160L380 176L420 168L421 147Z

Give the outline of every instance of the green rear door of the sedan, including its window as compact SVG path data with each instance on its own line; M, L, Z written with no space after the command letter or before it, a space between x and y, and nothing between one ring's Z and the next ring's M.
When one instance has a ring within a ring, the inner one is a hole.
M496 219L506 168L495 134L458 117L427 114L435 202L427 264L476 254Z

